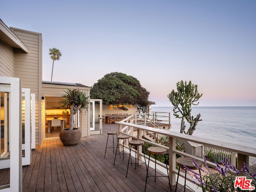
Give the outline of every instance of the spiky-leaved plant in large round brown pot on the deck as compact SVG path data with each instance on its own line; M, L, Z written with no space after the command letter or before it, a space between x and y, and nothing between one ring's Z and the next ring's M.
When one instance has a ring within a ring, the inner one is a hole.
M64 145L76 145L79 143L82 132L79 128L74 128L75 114L79 110L87 110L90 104L90 96L79 89L64 90L65 94L62 95L61 102L63 107L67 110L70 109L70 123L69 128L60 131L60 140Z

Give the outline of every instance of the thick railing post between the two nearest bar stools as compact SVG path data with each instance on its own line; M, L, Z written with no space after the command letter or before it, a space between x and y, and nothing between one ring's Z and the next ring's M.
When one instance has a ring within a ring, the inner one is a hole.
M176 149L175 138L169 137L169 176L170 176L170 184L175 185L176 173L173 170L176 170L176 153L173 151Z

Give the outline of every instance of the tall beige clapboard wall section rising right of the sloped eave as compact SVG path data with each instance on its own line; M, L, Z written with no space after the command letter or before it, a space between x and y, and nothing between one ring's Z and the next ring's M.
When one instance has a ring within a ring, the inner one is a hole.
M42 143L42 34L10 28L28 48L28 53L15 51L14 76L22 79L22 88L36 96L36 144ZM15 50L15 49L14 49Z

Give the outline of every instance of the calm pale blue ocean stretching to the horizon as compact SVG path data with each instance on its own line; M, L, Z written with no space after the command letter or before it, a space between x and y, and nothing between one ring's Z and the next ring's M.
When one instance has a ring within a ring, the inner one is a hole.
M191 114L201 114L193 136L241 144L256 148L256 107L192 107ZM172 131L180 132L180 118L173 107L152 107L152 112L170 112ZM186 130L189 127L185 122Z

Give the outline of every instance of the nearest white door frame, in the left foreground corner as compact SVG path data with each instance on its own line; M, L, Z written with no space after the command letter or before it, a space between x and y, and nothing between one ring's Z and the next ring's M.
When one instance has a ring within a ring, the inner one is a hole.
M9 92L9 130L10 130L10 159L1 160L0 168L4 164L10 167L10 185L1 186L0 192L22 191L22 122L21 122L21 80L14 77L0 76L0 83L7 84L0 87L0 91Z

